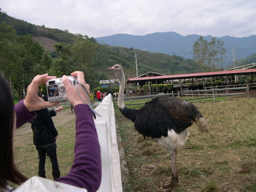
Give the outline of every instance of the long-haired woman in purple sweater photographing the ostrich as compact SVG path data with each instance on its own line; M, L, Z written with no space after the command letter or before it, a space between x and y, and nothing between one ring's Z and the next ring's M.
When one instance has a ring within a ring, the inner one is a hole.
M71 76L77 77L89 93L90 86L85 83L82 72L73 72ZM37 95L38 86L42 82L54 78L47 74L36 76L27 89L26 99L21 100L13 107L9 82L0 74L0 191L11 190L9 182L21 184L28 179L14 165L12 151L14 132L16 128L34 119L35 111L58 105L58 102L45 102ZM75 157L70 173L64 177L59 177L55 181L85 188L88 192L95 192L101 183L101 157L92 112L88 105L84 104L77 95L76 88L71 85L67 76L63 76L63 84L67 90L67 97L76 110ZM89 103L81 87L78 87L78 93ZM35 185L33 182L28 184Z

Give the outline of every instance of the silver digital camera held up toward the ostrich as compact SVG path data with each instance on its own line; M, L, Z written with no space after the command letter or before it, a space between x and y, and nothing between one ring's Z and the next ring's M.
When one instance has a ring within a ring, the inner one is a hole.
M72 85L76 83L76 77L67 76ZM49 102L67 101L67 92L62 83L62 78L51 79L46 83Z

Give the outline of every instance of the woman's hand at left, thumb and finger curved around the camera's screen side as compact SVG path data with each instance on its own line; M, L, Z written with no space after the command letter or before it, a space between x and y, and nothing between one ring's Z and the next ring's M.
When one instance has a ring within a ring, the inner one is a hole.
M48 74L37 75L34 77L31 84L27 88L27 94L24 100L24 105L29 110L29 112L37 111L43 108L51 108L59 104L58 102L45 102L42 98L38 96L38 86L42 82L46 83L46 81L48 81L49 79L55 78L55 76L48 76Z

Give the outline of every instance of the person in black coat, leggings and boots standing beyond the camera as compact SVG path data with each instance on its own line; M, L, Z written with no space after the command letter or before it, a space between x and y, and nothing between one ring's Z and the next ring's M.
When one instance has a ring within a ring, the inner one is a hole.
M38 96L42 97L42 92L38 90ZM54 111L55 112L55 111ZM52 113L54 113L52 112ZM34 130L34 145L39 155L38 175L39 177L45 176L45 160L46 153L49 154L52 163L52 176L53 179L60 177L58 167L57 153L56 153L56 139L58 131L56 130L52 117L47 108L35 111L36 118L33 119ZM55 112L56 113L56 112ZM56 115L56 114L55 114Z

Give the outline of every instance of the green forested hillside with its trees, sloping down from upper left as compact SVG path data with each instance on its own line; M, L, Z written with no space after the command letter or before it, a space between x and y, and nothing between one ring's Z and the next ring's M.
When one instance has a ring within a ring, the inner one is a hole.
M81 70L91 88L96 88L100 80L115 79L107 69L121 64L127 78L135 77L135 51L139 75L150 71L165 75L200 72L192 59L99 44L93 37L36 26L1 9L0 49L0 71L12 81L19 99L36 74L61 77Z

